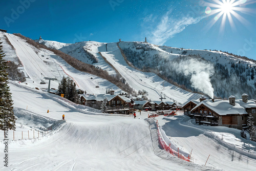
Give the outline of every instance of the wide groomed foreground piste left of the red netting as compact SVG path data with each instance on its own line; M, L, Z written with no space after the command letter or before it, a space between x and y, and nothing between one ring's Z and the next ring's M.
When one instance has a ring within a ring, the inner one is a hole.
M13 93L14 108L37 113L38 118L41 116L57 120L65 114L67 122L47 136L10 141L9 167L1 165L1 170L208 168L176 157L166 157L158 146L156 132L153 130L151 135L148 122L143 120L147 113L138 116L141 119L134 119L132 115L98 114L85 106L63 101L53 94L35 91L15 82L9 85ZM27 110L26 105L29 106ZM47 113L46 109L50 112ZM3 143L0 148L3 149Z

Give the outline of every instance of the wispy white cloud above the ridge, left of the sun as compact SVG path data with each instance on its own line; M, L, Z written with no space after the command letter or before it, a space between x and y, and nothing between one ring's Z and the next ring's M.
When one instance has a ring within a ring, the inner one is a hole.
M156 17L150 15L150 18L144 20L145 34L151 43L156 45L163 45L168 39L175 36L175 34L182 32L187 26L196 24L200 21L200 18L193 18L183 16L180 19L174 19L169 17L171 10L166 12L163 16L160 16L158 23ZM154 19L152 19L154 18ZM154 21L154 23L150 23Z

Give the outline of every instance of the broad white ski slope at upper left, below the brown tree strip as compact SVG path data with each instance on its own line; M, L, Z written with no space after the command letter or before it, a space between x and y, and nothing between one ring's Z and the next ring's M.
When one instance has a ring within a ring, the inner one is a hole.
M29 77L27 83L34 83L35 87L48 88L47 84L39 83L44 77L51 77L57 79L56 81L51 81L51 88L57 89L61 78L69 76L76 82L77 88L85 90L87 93L104 94L106 89L111 88L117 93L122 92L108 80L74 69L51 51L46 49L38 50L13 34L5 33L5 35L15 48L17 57L23 64L25 74ZM48 80L45 81L48 82ZM96 86L99 86L99 88L96 88Z

